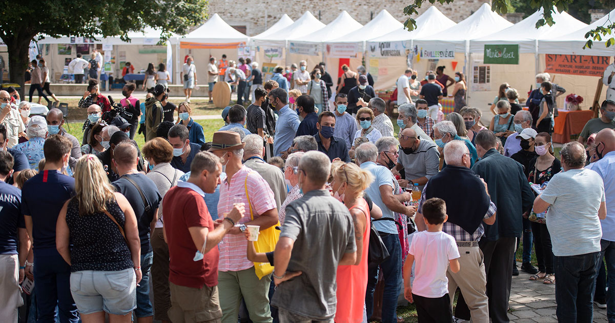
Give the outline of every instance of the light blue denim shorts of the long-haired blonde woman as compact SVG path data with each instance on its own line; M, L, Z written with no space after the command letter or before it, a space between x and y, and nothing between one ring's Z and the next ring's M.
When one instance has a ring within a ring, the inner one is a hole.
M71 294L81 314L105 311L125 315L137 307L135 269L76 271L71 273Z

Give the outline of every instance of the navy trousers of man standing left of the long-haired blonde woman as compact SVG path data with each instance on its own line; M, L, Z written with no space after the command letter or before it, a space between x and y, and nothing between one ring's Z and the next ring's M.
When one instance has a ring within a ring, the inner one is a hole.
M36 284L37 323L77 323L77 306L71 295L71 268L57 250L34 250L34 284Z

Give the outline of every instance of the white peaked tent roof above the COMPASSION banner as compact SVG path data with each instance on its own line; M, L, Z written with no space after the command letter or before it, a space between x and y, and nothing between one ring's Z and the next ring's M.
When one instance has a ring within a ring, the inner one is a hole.
M431 36L454 25L457 23L442 14L435 6L431 6L416 18L415 30L408 31L402 26L384 36L370 39L368 42L410 41L419 37Z

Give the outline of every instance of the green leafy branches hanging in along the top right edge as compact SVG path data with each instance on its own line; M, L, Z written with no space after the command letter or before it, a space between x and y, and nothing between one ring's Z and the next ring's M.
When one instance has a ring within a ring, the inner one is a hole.
M403 9L403 14L408 17L417 15L416 9L420 8L424 2L434 4L440 2L441 4L450 4L454 0L412 0L412 4ZM557 7L558 12L568 12L579 20L589 23L589 9L611 9L615 5L615 0L491 0L491 9L498 14L506 14L507 12L525 12L526 15L532 14L534 11L542 7L544 14L543 18L536 22L536 28L544 25L552 26L556 23L553 20L553 13ZM408 18L404 23L405 28L408 30L414 30L416 28L416 21L413 18ZM585 47L592 47L593 41L602 41L606 39L606 47L615 45L615 38L613 38L613 30L615 30L615 17L613 22L609 21L604 26L597 26L593 30L590 30L585 34L587 42Z

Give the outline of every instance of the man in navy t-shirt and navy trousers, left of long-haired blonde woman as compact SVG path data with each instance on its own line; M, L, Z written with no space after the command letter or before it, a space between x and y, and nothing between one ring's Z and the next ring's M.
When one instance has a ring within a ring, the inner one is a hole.
M39 322L54 322L55 308L62 322L77 323L77 306L70 289L71 267L55 249L55 222L64 203L74 195L74 178L62 175L73 144L62 135L45 141L45 168L26 181L22 213L34 249L34 282Z

